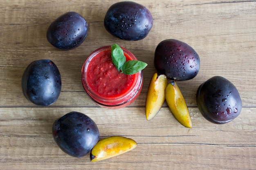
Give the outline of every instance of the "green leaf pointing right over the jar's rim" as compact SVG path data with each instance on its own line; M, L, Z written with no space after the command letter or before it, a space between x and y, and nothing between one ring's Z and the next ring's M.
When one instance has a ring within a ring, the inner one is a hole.
M126 75L132 75L143 70L147 65L148 64L138 60L129 60L121 66L121 71Z

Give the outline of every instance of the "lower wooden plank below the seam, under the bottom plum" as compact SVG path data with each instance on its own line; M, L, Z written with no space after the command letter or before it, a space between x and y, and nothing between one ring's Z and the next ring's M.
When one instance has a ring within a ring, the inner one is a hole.
M120 135L137 141L134 150L98 163L89 155L73 158L55 144L52 124L58 117L79 111L98 125L100 139ZM228 124L205 120L190 108L193 128L180 125L168 108L150 121L144 108L1 108L0 169L253 169L256 161L255 108L243 108ZM126 167L122 168L122 166Z

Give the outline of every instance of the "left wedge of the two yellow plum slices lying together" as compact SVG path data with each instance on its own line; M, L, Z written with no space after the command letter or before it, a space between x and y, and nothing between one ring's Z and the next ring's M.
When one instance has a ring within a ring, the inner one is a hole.
M146 119L151 120L159 112L164 104L164 89L168 84L166 75L154 73L149 87L146 99Z

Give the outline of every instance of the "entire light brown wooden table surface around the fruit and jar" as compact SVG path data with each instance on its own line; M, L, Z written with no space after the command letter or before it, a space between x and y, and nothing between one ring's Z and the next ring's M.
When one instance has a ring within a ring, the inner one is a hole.
M0 169L1 170L256 170L256 1L135 0L147 7L154 24L140 41L119 40L103 26L110 0L0 0ZM76 11L88 22L88 36L76 49L60 51L46 39L49 24ZM198 75L178 82L193 128L185 128L166 103L150 121L145 117L154 52L165 39L186 42L197 51ZM83 90L81 67L95 49L117 43L148 66L138 99L127 108L95 105ZM21 77L34 60L50 59L62 78L57 102L39 107L22 94ZM243 101L228 124L212 124L198 110L195 94L202 82L220 75L231 81ZM71 111L98 125L100 139L120 135L137 142L123 155L91 163L89 155L66 155L54 142L52 124Z

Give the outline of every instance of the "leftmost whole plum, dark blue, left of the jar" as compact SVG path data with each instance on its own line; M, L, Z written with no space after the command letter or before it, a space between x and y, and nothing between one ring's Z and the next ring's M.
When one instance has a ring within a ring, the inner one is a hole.
M61 93L61 74L51 60L31 62L22 75L24 96L38 106L56 102Z

